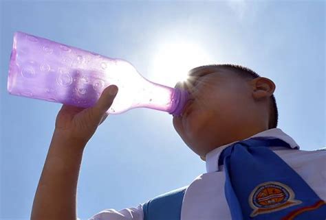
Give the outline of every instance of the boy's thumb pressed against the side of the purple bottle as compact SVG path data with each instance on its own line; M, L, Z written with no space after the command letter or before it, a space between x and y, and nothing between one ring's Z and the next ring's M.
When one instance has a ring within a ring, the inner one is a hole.
M116 85L111 85L105 88L100 95L100 99L98 99L94 106L94 114L102 118L103 114L105 114L105 112L107 112L107 110L111 107L113 99L116 97L117 93L118 86Z

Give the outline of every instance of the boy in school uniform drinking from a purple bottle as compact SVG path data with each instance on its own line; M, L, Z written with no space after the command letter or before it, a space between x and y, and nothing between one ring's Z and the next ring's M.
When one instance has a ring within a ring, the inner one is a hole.
M271 80L224 64L199 66L188 82L177 86L187 89L191 99L181 117L173 116L173 126L206 160L207 173L137 208L103 210L91 219L325 219L325 151L300 151L276 128ZM83 149L116 93L116 86L109 86L92 108L61 108L32 220L77 218Z

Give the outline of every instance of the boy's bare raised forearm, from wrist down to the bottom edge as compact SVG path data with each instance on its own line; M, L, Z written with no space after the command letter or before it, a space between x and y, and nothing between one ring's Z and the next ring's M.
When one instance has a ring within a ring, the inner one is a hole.
M32 220L72 220L76 214L76 188L85 143L54 132L36 189Z

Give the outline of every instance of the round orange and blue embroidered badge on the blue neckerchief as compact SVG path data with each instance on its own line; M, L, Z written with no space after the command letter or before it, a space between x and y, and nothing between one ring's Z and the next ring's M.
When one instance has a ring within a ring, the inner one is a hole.
M250 217L301 204L294 196L292 188L281 182L263 182L250 193L249 204L253 209Z

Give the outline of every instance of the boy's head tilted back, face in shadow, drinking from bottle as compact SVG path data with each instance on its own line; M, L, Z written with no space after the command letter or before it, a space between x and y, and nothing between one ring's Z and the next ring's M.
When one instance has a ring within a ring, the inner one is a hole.
M204 158L228 143L243 140L277 126L275 84L243 66L199 66L178 83L192 101L173 126L184 143Z

